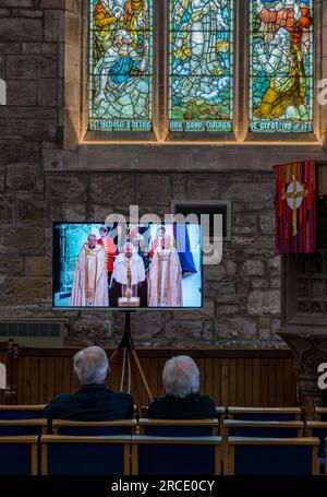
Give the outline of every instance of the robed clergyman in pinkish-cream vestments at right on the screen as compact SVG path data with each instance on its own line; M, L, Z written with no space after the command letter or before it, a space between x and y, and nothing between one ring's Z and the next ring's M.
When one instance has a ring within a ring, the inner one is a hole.
M147 289L149 307L182 305L182 268L169 235L160 238L160 242L154 249Z

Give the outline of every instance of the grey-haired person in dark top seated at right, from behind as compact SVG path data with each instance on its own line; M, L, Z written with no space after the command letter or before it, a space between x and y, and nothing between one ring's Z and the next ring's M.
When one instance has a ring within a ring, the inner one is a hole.
M180 355L169 359L164 368L162 380L166 395L150 403L147 417L157 419L217 417L213 399L199 394L199 371L191 357Z

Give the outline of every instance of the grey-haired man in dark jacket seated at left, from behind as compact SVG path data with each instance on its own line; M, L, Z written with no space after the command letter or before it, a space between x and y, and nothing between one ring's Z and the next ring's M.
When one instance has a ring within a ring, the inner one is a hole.
M81 383L75 393L55 397L45 407L48 419L114 421L133 417L133 399L129 393L114 393L106 386L109 364L106 352L97 346L77 352L74 371Z

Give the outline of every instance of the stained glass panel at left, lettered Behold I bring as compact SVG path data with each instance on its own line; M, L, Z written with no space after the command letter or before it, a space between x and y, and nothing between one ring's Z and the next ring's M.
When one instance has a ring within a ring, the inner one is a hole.
M89 0L92 131L153 129L153 0Z

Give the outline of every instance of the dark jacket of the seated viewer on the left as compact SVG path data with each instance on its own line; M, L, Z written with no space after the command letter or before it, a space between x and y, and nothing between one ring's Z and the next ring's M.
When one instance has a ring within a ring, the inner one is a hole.
M106 384L83 384L75 393L55 397L45 407L48 419L114 421L133 417L133 399L114 393Z

